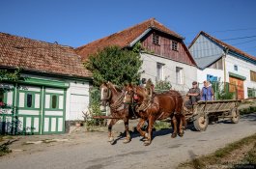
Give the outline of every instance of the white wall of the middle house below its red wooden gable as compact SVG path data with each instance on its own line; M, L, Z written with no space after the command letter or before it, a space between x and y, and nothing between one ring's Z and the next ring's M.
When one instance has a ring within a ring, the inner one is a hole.
M163 79L167 78L172 84L172 89L178 91L188 91L191 87L192 81L197 79L197 68L183 63L179 63L170 59L158 57L156 55L141 53L143 60L141 77L149 79L156 84L156 63L164 64ZM176 84L176 67L184 69L184 84Z

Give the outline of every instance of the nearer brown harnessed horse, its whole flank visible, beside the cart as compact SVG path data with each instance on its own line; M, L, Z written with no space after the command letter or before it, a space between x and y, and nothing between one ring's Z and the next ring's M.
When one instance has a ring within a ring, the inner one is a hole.
M137 130L147 139L144 143L145 146L150 145L152 142L152 129L156 120L171 118L173 127L172 137L177 136L178 124L179 134L183 136L185 116L182 114L183 98L179 92L169 91L162 94L155 94L155 96L149 100L146 89L140 86L128 85L126 91L124 102L132 102L135 98L138 104L136 111L139 114L140 121L137 125ZM145 121L149 121L148 133L141 129Z

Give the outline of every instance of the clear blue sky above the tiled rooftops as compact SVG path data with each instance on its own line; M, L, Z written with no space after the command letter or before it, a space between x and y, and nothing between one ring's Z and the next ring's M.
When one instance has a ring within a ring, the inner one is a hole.
M203 30L256 56L255 0L1 0L0 32L77 47L155 17L185 37ZM254 37L253 37L254 36Z

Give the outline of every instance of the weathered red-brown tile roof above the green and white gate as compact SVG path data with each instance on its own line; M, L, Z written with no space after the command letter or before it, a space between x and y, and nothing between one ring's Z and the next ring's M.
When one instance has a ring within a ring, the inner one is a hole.
M0 67L75 77L92 76L70 46L0 33Z

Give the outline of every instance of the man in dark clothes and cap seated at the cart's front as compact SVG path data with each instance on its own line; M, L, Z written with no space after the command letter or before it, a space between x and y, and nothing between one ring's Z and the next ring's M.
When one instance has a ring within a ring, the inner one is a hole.
M189 100L185 102L185 107L191 108L198 100L200 100L200 89L198 88L197 82L193 81L192 88L189 89L186 94L189 97Z

